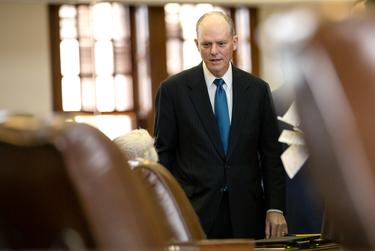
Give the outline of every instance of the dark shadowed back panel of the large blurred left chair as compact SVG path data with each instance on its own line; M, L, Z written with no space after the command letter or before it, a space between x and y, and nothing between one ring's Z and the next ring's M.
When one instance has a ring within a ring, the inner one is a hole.
M34 132L0 130L1 248L95 247L61 153Z

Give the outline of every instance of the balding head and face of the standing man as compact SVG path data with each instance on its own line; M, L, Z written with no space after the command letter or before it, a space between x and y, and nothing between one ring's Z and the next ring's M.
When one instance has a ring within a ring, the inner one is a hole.
M195 43L208 70L215 77L222 77L237 49L237 36L230 33L224 18L211 15L202 20Z

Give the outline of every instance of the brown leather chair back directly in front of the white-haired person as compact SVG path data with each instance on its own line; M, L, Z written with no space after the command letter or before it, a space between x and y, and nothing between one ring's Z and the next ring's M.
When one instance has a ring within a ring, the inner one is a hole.
M133 172L141 177L150 194L162 207L175 241L205 239L199 219L176 179L162 165L153 161L140 161Z

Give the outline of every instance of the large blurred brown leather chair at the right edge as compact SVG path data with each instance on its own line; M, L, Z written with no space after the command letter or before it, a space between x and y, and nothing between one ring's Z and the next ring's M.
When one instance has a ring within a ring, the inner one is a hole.
M375 13L318 26L295 54L297 105L312 175L326 198L323 237L375 249Z

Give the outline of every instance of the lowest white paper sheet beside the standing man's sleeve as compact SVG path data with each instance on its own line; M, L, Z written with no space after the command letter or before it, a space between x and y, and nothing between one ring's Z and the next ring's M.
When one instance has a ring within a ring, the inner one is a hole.
M281 154L281 161L289 178L293 179L308 156L306 147L301 145L291 145Z

